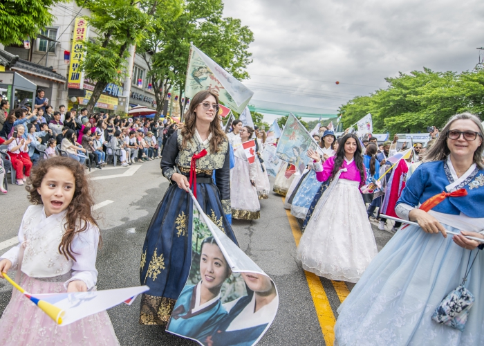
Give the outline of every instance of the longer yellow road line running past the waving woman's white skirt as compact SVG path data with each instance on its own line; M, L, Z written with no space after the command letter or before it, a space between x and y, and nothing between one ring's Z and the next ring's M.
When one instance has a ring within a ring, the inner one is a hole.
M282 198L284 202L284 198ZM301 230L299 229L299 224L294 216L290 214L290 210L286 209L286 215L288 215L288 220L290 228L292 230L292 235L296 242L296 246L299 246L299 240L301 239ZM335 343L335 324L336 318L329 304L328 296L324 291L323 284L319 277L308 271L304 271L306 274L306 280L308 280L309 291L313 297L313 303L315 304L317 319L319 320L319 325L323 332L324 342L326 345L333 345ZM339 293L338 293L339 297ZM341 300L341 297L339 298Z

